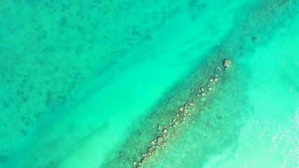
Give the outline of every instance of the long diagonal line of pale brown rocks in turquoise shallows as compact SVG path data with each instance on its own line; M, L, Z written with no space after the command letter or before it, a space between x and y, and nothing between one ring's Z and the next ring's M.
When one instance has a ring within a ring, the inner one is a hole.
M230 67L230 60L224 60L225 69ZM218 73L220 73L222 69L220 66L215 68L214 73L208 78L208 83L206 85L201 85L197 89L192 89L192 92L196 92L196 97L199 99L204 99L204 97L213 90L213 87L216 83L218 83ZM157 125L157 138L153 139L150 144L151 146L147 148L147 152L142 154L142 158L140 162L133 162L133 167L142 167L145 165L147 160L152 157L154 153L157 152L159 149L164 149L166 144L168 144L168 140L171 137L175 137L178 134L177 129L180 125L184 125L187 118L190 120L192 113L194 113L194 108L196 107L196 103L194 99L185 103L183 106L178 107L178 113L176 113L175 117L168 122L168 127L166 125L161 126Z

